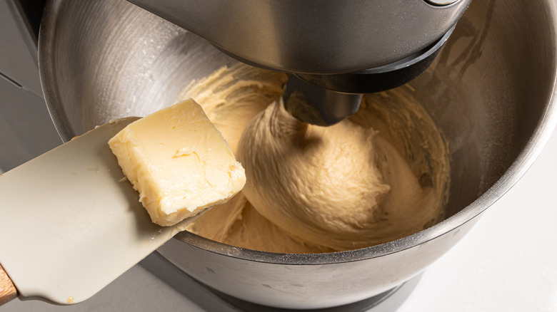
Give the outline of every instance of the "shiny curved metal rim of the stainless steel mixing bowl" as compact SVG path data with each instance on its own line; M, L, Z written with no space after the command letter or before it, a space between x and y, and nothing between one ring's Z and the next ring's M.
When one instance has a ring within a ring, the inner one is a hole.
M43 60L52 59L51 51L54 48L54 29L56 28L56 13L57 6L60 1L47 1L44 9L44 18L41 21L41 28L39 31L39 76L41 79L41 87L44 93L44 100L49 110L56 130L59 132L62 140L68 141L76 135L66 125L69 125L69 120L65 115L60 115L61 110L56 110L56 107L61 105L59 93L56 90L54 77L51 75L53 72L51 68L54 67L53 63L45 62ZM548 14L552 16L553 24L553 58L557 55L557 46L555 45L557 38L557 3L548 1L551 10ZM48 31L47 31L48 30ZM439 222L438 224L424 229L421 232L412 234L410 236L389 241L385 244L376 246L369 246L362 249L353 249L349 251L338 251L321 254L280 254L266 251L256 251L251 249L244 249L241 247L231 246L228 244L219 243L198 236L190 232L181 232L175 236L184 244L190 244L206 251L223 256L231 256L236 259L243 259L246 261L264 262L269 264L288 264L288 265L323 265L323 264L339 264L352 261L363 261L366 259L378 258L387 256L388 254L395 254L405 249L410 249L415 246L426 243L451 232L461 224L469 222L474 219L484 210L495 203L499 198L508 192L516 182L526 173L529 167L540 155L541 150L548 142L553 129L557 125L557 68L556 62L553 61L553 76L552 76L551 94L548 97L546 111L538 123L538 127L533 132L533 135L528 140L524 149L520 152L513 164L503 174L503 176L493 184L481 197L478 197L474 202L463 208L451 217ZM52 96L46 96L51 94Z

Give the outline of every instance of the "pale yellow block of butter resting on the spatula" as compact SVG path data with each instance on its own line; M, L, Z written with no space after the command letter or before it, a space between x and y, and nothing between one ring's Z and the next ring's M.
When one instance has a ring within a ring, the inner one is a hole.
M246 184L228 143L191 99L136 120L109 145L161 226L224 203Z

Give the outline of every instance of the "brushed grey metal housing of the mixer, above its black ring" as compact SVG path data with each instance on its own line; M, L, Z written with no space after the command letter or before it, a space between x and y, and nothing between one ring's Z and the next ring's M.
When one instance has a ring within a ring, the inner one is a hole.
M443 37L471 2L129 1L239 61L311 74L350 73L412 56Z

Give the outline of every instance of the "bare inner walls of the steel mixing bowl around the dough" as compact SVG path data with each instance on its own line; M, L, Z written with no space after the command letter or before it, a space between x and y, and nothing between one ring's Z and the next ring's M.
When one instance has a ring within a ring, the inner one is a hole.
M47 10L41 80L64 140L171 105L192 80L236 63L124 0L55 0ZM433 66L409 83L449 142L448 218L493 190L551 113L555 17L551 1L473 1Z

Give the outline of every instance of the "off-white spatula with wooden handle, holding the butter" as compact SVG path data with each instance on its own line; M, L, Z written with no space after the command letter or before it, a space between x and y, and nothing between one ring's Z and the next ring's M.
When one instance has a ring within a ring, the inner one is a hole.
M91 130L0 176L0 305L16 296L84 301L195 218L159 227L124 179L107 142L136 119Z

